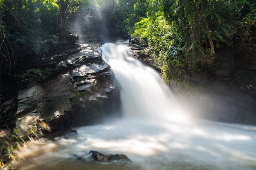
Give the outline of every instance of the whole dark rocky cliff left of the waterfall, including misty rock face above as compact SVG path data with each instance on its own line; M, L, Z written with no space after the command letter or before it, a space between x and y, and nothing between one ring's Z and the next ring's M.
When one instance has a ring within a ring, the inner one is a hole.
M64 135L71 126L92 124L118 113L120 87L100 53L103 39L108 41L111 31L103 22L106 16L91 9L70 18L79 39L64 31L58 36L61 42L69 42L65 48L26 63L27 69L50 69L51 79L13 94L10 91L16 89L0 82L1 127L16 124L20 132L52 138Z

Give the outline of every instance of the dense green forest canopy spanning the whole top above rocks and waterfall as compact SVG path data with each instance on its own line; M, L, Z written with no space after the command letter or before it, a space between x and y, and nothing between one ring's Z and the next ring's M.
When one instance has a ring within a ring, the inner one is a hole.
M1 0L1 69L46 55L74 12L97 7L137 37L168 81L205 71L224 49L255 54L254 0ZM90 5L89 5L90 4ZM236 49L236 50L234 50Z

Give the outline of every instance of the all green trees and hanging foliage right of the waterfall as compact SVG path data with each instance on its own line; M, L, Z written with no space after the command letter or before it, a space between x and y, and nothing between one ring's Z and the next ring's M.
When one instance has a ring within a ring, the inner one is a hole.
M144 4L146 16L135 24L132 35L148 45L144 52L157 59L167 82L184 73L206 73L223 47L256 52L253 0L146 0Z

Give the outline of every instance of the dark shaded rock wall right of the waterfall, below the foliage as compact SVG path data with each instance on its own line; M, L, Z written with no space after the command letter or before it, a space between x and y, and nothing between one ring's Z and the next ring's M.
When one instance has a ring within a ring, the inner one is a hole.
M238 57L243 58L217 53L206 82L200 75L191 77L194 84L205 84L190 93L200 117L256 125L256 70Z

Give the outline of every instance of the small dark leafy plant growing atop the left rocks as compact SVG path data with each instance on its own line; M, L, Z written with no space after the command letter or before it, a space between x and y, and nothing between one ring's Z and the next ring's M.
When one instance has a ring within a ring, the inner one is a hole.
M17 75L18 78L26 80L28 82L45 82L49 77L52 76L52 70L49 68L42 69L29 69L25 73L21 72Z

